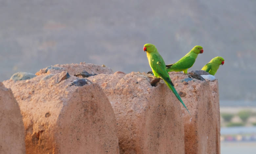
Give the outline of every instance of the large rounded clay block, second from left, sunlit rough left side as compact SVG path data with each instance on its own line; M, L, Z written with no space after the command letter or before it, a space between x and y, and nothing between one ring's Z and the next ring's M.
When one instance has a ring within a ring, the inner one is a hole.
M79 78L64 79L66 71L26 81L4 81L21 109L26 153L119 154L117 123L108 98L97 84L71 86Z

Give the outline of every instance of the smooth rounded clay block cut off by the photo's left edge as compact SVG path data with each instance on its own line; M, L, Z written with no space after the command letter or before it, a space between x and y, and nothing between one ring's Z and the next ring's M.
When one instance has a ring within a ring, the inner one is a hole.
M0 153L25 154L25 131L20 107L11 89L0 82Z

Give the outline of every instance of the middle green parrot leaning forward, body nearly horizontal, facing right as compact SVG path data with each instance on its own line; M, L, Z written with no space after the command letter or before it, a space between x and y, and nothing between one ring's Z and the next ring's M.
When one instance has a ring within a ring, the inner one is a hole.
M178 62L171 64L171 65L166 65L167 71L168 72L183 71L184 73L187 73L187 69L193 66L193 64L196 61L197 55L199 53L203 53L203 47L195 46L184 57L182 57Z

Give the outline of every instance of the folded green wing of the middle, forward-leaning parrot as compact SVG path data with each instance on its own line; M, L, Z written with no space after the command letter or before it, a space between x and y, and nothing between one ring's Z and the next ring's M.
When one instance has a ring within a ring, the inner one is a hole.
M187 69L192 67L195 61L196 59L192 56L184 56L178 62L171 65L166 65L166 67L167 67L167 70Z

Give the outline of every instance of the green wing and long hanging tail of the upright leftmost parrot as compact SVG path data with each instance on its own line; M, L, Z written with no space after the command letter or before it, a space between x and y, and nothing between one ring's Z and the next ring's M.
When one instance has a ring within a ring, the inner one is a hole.
M163 58L160 55L157 55L157 54L153 55L151 57L150 66L154 70L153 72L158 73L158 75L164 80L166 85L172 90L172 92L178 98L178 100L181 102L181 104L187 109L187 107L185 106L185 104L181 100L181 96L178 94L178 92L174 88L174 85L173 85L173 83L170 79L170 76L169 76L169 74L168 74L168 72L165 68L165 63L163 61ZM187 109L187 111L188 111L188 109ZM189 111L188 111L188 113L190 114Z

